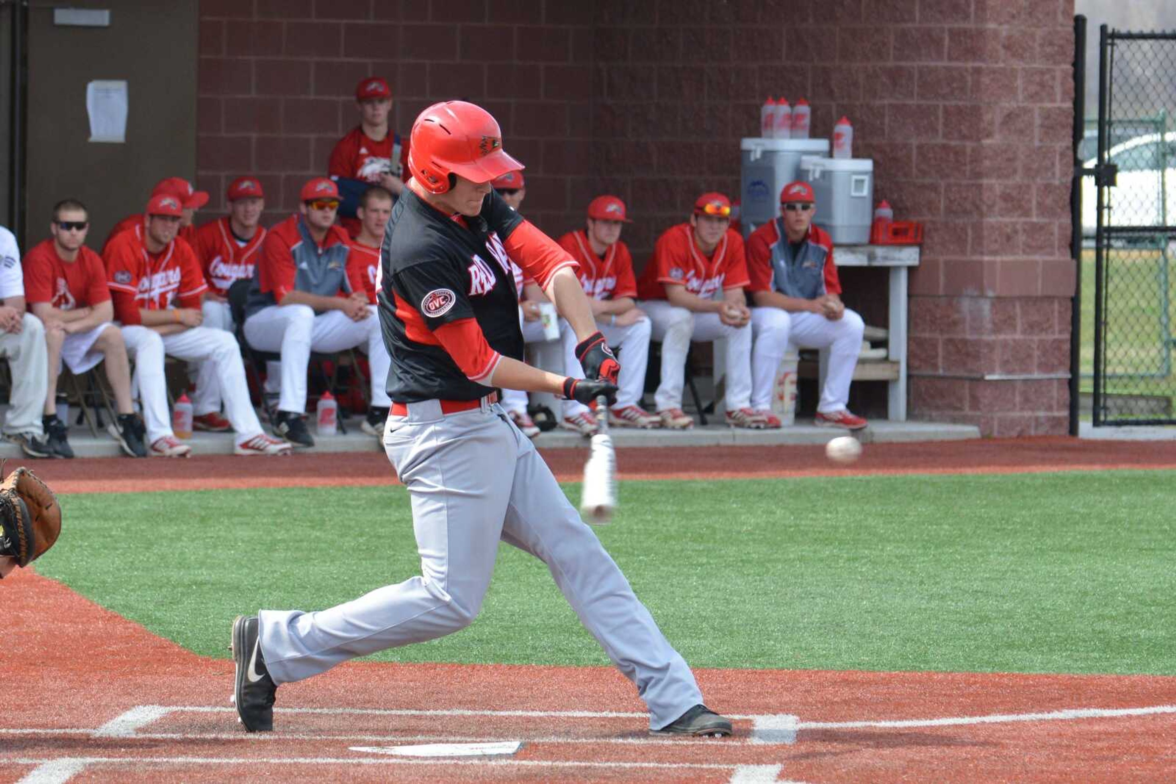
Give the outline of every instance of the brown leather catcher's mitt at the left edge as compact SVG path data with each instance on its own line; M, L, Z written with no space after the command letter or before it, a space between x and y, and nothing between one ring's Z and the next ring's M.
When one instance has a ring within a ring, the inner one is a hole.
M58 497L35 474L18 468L0 482L0 556L27 567L53 547L60 532Z

